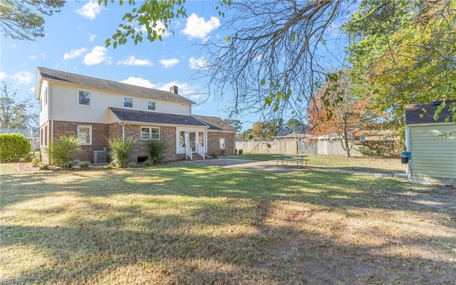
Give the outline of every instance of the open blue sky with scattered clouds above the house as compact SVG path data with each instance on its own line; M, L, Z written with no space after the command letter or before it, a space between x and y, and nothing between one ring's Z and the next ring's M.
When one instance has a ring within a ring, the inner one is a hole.
M186 7L187 19L175 22L175 35L165 34L162 42L144 40L138 46L132 42L114 49L105 48L104 42L131 7L67 1L60 13L45 18L45 37L14 41L1 35L0 80L27 98L33 97L38 66L160 90L175 85L180 95L197 103L193 114L227 118L229 98L208 97L207 79L195 79L205 61L195 43L227 35L217 32L220 19L209 1L188 1ZM257 120L237 119L244 122L244 130Z

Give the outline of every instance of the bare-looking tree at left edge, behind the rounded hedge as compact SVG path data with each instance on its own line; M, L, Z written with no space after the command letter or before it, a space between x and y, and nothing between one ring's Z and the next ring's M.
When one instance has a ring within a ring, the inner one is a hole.
M38 115L31 111L31 99L21 100L19 90L9 90L4 82L1 83L0 92L0 128L26 129L36 125Z

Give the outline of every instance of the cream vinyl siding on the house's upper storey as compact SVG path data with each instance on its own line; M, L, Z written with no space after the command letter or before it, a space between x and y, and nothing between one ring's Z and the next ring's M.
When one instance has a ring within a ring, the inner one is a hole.
M44 81L46 82L46 81ZM43 95L45 85L41 87ZM110 116L109 107L123 108L123 94L109 93L103 90L90 89L90 108L75 108L75 93L77 89L83 89L82 86L55 84L52 87L52 93L49 93L51 104L53 104L53 119L70 122L84 123L115 123L115 116ZM48 88L48 92L51 86ZM84 89L86 90L86 89ZM133 110L147 110L147 100L150 98L140 96L130 96L134 100ZM190 105L175 101L155 100L156 104L160 104L160 113L190 115ZM50 108L48 104L48 108ZM81 112L83 109L83 112ZM46 113L46 114L45 114ZM47 110L41 112L40 123L46 123Z

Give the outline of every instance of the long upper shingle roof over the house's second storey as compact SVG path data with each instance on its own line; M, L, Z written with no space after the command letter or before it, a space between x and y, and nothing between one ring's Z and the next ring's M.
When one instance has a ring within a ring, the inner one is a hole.
M63 71L55 71L49 68L38 67L38 73L40 73L43 79L61 81L63 83L72 83L78 86L86 86L90 88L97 88L101 90L110 90L120 93L128 93L132 95L139 95L142 97L159 98L164 100L173 100L187 104L195 104L192 100L189 100L181 95L156 90L151 88L145 88L141 86L134 86L126 83L120 83L115 81L107 81L105 79L93 78L89 76L81 76L74 73L68 73Z

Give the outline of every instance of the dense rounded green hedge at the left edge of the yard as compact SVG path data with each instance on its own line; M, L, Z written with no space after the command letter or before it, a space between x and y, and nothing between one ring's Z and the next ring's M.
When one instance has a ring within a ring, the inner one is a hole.
M26 157L31 150L31 143L19 133L0 134L0 162L13 158Z

